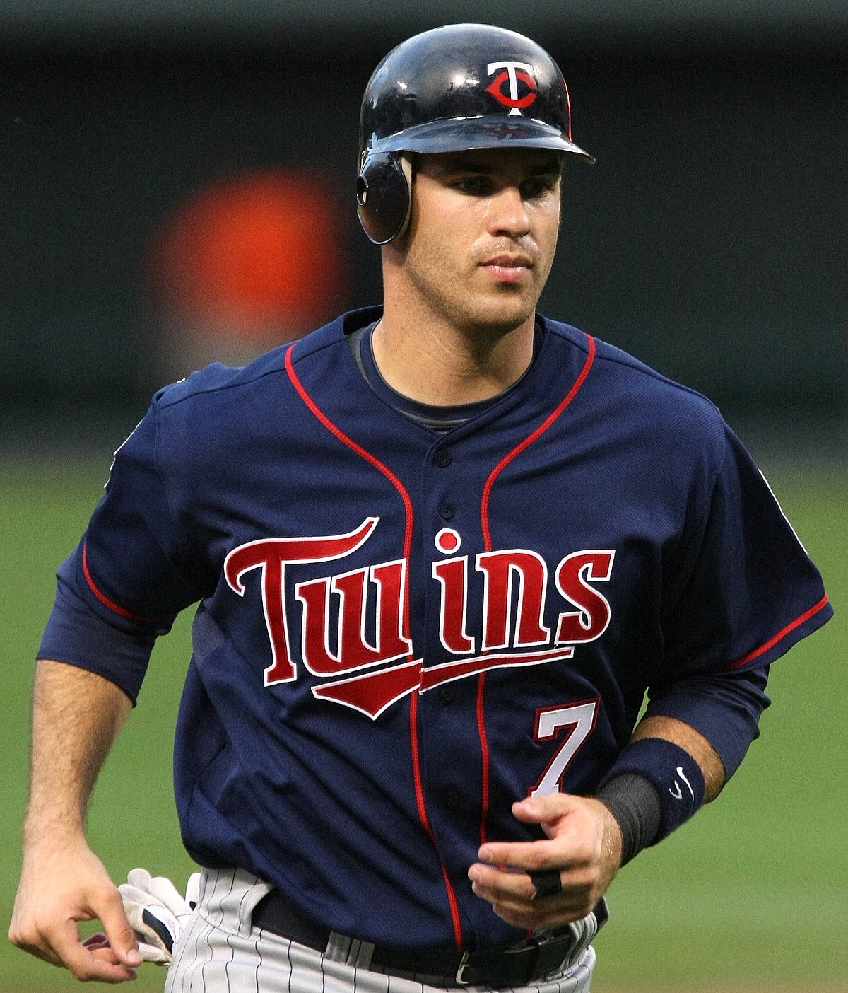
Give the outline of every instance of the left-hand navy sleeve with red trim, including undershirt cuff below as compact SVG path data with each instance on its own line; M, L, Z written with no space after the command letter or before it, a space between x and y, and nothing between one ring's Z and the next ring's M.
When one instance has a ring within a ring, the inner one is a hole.
M190 528L173 512L156 402L115 453L104 496L61 564L39 657L78 665L135 701L155 639L203 595Z

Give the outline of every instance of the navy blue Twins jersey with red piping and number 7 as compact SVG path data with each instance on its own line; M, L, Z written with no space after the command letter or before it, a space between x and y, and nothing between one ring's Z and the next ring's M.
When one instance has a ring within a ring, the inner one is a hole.
M439 432L358 368L345 334L378 316L156 395L41 654L135 698L199 601L189 853L336 931L505 945L466 873L481 841L540 836L511 803L593 793L646 690L763 668L832 611L699 394L540 320L522 379Z

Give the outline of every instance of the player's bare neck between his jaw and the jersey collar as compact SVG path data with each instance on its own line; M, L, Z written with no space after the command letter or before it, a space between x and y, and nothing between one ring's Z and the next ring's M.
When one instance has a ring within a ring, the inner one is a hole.
M496 396L533 360L534 315L508 331L470 333L419 327L385 314L372 337L374 361L389 385L433 406Z

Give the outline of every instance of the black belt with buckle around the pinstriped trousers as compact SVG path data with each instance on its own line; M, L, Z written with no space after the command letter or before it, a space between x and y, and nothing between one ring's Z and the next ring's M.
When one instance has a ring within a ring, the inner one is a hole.
M598 926L606 921L603 901L595 910ZM272 890L253 911L254 927L263 927L323 952L330 931L304 921L279 890ZM588 942L587 942L588 943ZM370 968L385 972L417 973L443 986L490 986L495 989L527 986L558 971L576 948L570 928L532 937L525 944L499 950L461 951L456 948L390 948L377 945Z

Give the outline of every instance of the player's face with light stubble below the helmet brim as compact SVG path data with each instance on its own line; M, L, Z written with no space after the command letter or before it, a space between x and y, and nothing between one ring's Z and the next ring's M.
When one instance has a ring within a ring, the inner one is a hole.
M400 286L424 319L503 334L534 312L559 227L560 157L545 149L422 155Z

